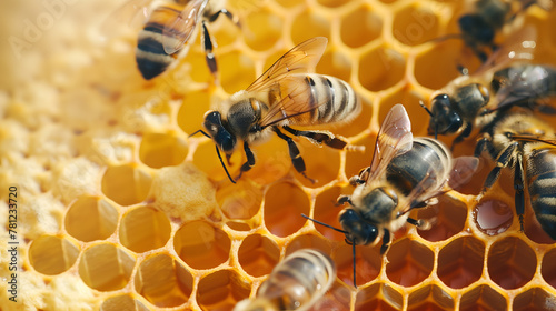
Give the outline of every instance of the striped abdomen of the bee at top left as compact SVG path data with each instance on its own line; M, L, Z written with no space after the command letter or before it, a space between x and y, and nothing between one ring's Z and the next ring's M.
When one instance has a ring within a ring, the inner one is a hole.
M177 59L178 52L168 54L163 42L176 42L175 38L165 37L163 29L168 22L180 13L178 6L161 6L152 11L143 29L139 32L136 49L136 61L139 71L147 80L165 72Z

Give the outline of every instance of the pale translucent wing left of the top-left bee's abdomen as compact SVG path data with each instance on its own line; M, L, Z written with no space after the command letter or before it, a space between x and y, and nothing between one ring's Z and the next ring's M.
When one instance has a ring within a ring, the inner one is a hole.
M105 38L115 37L121 24L127 24L130 29L140 29L148 20L152 0L128 0L118 9L111 12L100 26L100 32Z

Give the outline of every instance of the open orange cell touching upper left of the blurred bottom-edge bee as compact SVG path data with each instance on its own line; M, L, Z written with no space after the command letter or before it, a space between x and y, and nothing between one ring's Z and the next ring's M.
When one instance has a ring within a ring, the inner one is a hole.
M239 264L255 278L270 273L279 259L280 249L276 242L260 234L245 238L238 250Z

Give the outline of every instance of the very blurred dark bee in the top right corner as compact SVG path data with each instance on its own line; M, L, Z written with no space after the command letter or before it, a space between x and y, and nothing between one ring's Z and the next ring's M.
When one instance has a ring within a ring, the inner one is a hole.
M499 32L510 33L505 28L517 28L516 22L529 7L538 7L550 10L550 0L477 0L473 1L473 9L461 16L458 20L459 34L450 34L445 38L461 38L467 47L485 62L488 56L498 49L495 43L496 34ZM490 50L488 52L488 50Z

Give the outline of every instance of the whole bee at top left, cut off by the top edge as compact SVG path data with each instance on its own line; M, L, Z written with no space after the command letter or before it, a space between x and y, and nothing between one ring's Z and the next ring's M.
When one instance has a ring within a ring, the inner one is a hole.
M197 37L193 34L200 28L207 64L216 79L218 68L207 22L214 22L222 13L239 24L225 4L224 0L129 0L108 21L115 23L119 20L132 21L137 16L143 17L136 61L147 80L161 74L185 57ZM105 28L106 31L112 31L113 27L105 24Z

